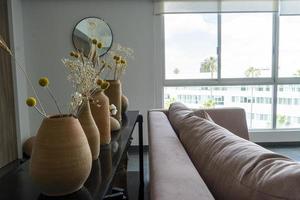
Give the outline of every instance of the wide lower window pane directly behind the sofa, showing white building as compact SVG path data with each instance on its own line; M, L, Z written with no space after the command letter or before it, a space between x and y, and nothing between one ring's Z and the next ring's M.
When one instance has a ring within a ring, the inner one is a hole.
M165 87L164 106L175 101L190 108L240 107L247 115L248 128L272 127L273 86Z

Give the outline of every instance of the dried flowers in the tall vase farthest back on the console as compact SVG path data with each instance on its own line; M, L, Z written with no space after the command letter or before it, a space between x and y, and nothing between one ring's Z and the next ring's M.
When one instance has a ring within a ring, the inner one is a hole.
M104 56L101 61L103 71L106 68L109 69L108 77L106 79L119 80L122 74L127 69L129 59L134 59L134 51L131 48L123 47L120 44L113 45L111 50Z

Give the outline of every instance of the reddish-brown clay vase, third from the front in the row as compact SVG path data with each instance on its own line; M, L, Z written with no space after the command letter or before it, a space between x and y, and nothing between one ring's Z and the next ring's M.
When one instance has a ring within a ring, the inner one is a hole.
M100 144L109 144L111 140L110 134L110 110L109 99L101 91L93 95L96 104L91 103L91 111L100 132Z

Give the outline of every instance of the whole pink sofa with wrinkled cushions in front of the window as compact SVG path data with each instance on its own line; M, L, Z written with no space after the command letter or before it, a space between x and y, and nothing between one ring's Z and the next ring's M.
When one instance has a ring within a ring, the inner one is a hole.
M151 200L300 199L300 164L250 142L240 108L148 112Z

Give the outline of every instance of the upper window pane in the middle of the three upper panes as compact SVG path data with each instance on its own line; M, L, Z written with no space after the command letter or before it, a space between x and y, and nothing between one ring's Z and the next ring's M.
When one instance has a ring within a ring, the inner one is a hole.
M272 13L222 14L223 78L271 77Z

